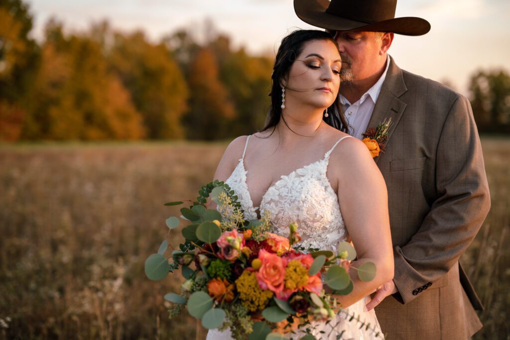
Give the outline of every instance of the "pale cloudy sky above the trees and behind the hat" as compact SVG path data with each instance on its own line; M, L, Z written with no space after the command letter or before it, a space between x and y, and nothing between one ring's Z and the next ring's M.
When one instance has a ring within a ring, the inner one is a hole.
M314 1L314 0L310 0ZM158 41L176 29L200 36L212 21L235 47L253 54L275 54L279 41L293 30L313 28L294 13L293 0L27 0L34 15L34 36L56 17L70 31L87 30L107 19L114 29L143 30ZM395 35L390 55L407 71L448 81L468 94L477 70L510 72L510 1L400 0L396 17L418 16L431 24L419 37ZM268 75L269 76L269 75Z

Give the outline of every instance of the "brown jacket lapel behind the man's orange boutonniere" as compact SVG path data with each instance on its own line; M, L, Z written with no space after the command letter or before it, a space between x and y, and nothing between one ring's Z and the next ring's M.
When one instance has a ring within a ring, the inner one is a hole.
M391 135L395 131L395 127L404 113L406 103L398 99L402 94L407 91L407 87L404 84L402 76L402 70L395 64L393 58L390 57L390 67L388 73L386 73L386 79L382 83L381 92L377 97L372 117L368 122L368 127L376 127L377 124L381 123L386 118L391 118L392 125L388 132L388 139L386 144L390 141ZM375 159L378 163L381 156Z

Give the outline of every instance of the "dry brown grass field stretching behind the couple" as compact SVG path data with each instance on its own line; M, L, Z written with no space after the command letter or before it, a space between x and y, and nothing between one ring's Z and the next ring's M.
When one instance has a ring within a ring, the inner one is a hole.
M462 262L486 305L476 338L505 339L510 139L482 145L492 210ZM186 312L167 319L163 295L178 290L177 276L149 281L143 263L177 213L163 203L193 198L224 147L0 146L0 339L194 339Z

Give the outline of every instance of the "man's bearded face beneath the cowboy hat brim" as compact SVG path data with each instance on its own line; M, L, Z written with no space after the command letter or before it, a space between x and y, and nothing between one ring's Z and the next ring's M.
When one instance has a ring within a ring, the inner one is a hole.
M379 71L381 41L375 32L337 31L335 40L342 57L342 81L365 80Z

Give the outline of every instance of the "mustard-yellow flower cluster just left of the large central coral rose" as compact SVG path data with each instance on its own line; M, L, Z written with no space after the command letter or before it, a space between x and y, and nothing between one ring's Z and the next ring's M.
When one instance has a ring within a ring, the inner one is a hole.
M242 304L250 311L263 309L267 301L273 297L273 292L261 289L255 273L247 270L236 280L236 287Z

